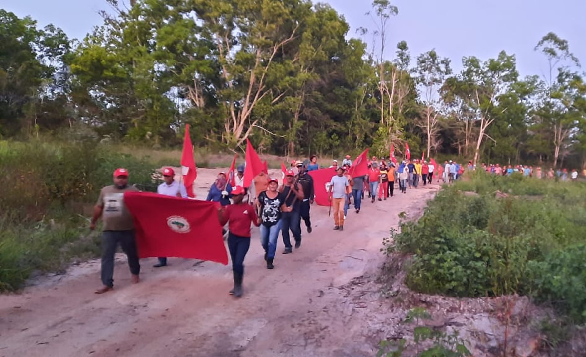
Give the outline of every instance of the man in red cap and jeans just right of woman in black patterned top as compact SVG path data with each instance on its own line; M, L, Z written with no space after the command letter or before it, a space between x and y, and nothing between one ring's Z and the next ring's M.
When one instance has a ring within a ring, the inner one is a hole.
M289 254L292 252L289 230L291 230L295 239L295 249L301 247L301 202L305 196L301 185L295 182L295 173L289 170L285 176L287 177L287 182L281 187L281 193L284 197L281 215L281 236L285 245L283 254Z

